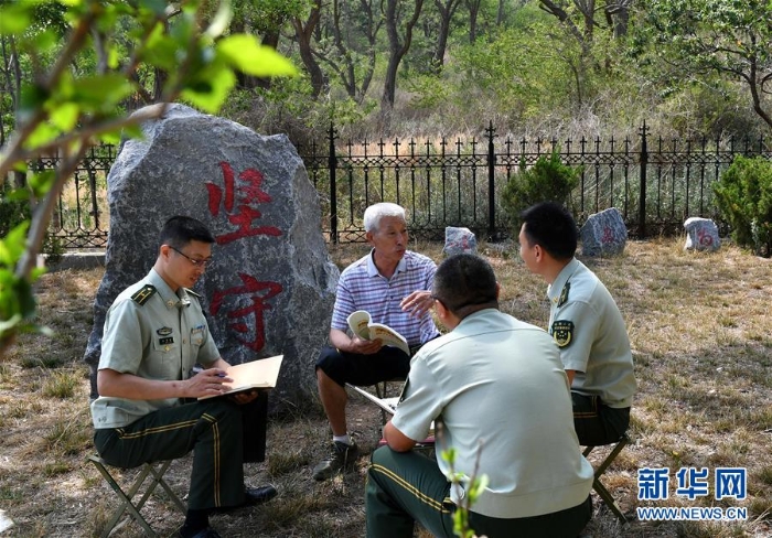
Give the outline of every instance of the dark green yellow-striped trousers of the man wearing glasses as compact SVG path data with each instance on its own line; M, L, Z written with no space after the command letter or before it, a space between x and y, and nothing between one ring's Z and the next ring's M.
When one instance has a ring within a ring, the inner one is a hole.
M244 462L265 456L266 404L267 395L246 406L212 398L170 407L124 428L96 430L94 444L107 463L125 469L193 450L187 507L235 506L244 501Z

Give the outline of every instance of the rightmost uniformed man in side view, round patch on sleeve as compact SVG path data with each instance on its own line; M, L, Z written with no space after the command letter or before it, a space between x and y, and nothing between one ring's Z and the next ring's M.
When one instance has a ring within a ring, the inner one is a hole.
M637 387L622 313L605 286L575 258L578 230L567 208L544 202L521 218L521 257L549 284L549 333L571 384L579 442L614 443L628 430Z

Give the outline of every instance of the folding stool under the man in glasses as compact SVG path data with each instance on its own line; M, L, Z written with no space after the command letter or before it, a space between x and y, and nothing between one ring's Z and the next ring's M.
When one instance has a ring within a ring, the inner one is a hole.
M150 495L152 495L156 492L156 487L159 485L163 487L163 489L165 489L167 494L169 495L169 498L174 503L176 508L183 515L187 510L182 501L180 501L180 497L176 496L176 494L172 491L167 481L163 480L163 475L169 469L169 465L171 465L172 460L154 463L144 463L143 465L141 465L140 471L137 474L133 483L128 487L127 491L124 491L124 487L126 487L126 485L121 487L118 484L118 481L116 481L112 477L109 470L107 469L109 466L107 462L105 462L98 455L89 455L88 460L94 464L94 466L97 467L101 476L107 481L112 491L120 498L120 505L112 513L112 517L105 526L105 531L101 535L103 538L106 538L110 535L110 532L126 512L128 512L129 515L142 527L147 536L157 537L158 535L150 527L150 525L148 525L148 521L144 519L144 517L142 517L140 512L142 509L142 506L144 506L144 503L148 501L148 498L150 498ZM144 493L142 494L139 502L135 504L133 498L140 493L140 488L142 487L142 484L144 484L146 478L150 478L150 482L148 483L147 488L144 489ZM156 493L156 495L159 494Z

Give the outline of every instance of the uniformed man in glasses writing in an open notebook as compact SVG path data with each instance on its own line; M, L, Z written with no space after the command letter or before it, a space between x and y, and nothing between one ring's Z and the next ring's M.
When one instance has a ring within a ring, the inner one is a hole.
M265 459L267 392L226 391L221 356L190 289L212 262L215 238L185 216L167 220L153 268L107 312L92 404L94 444L110 465L136 467L193 450L182 538L217 538L210 513L253 506L274 486L246 488L245 462ZM201 364L203 372L193 374Z

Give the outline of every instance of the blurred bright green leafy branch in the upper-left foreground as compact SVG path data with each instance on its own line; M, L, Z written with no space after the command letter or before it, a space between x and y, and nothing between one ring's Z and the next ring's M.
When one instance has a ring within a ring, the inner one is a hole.
M62 6L66 10L57 11ZM31 218L0 243L0 354L17 332L34 329L36 255L62 185L92 144L115 142L121 132L137 136L142 121L178 99L217 111L236 71L261 77L294 74L291 63L253 35L226 34L229 20L228 6L208 12L197 1L179 9L154 0L0 4L2 44L30 66L28 76L18 78L15 126L0 153L0 179L23 174L24 184L4 198L31 208ZM62 30L63 40L57 39ZM128 54L121 54L121 43ZM84 73L78 64L89 54L97 58L95 69ZM168 74L160 104L127 116L122 104L141 90L137 73L143 67ZM55 171L28 170L28 162L44 154L60 157Z

